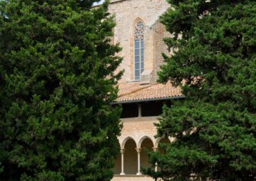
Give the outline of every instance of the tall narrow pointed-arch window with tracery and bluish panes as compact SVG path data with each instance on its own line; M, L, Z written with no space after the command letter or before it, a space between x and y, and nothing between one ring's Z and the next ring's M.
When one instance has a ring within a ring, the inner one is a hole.
M144 71L144 25L138 21L134 31L134 79L140 80Z

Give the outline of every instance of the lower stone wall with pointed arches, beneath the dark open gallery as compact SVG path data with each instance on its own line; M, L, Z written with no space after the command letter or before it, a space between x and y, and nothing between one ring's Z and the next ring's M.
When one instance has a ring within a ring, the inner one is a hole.
M166 143L173 141L173 138L170 138L169 140L164 140L164 138L154 138L156 135L156 126L154 126L154 122L158 122L157 118L158 117L135 117L122 119L122 134L118 140L120 142L121 150L124 150L123 174L136 175L140 173L138 170L138 149L140 150L140 166L148 168L151 165L148 163L148 156L144 148L147 148L147 150L154 150L153 148L157 148L159 141L164 141ZM121 167L122 161L120 153L115 160L115 168L113 169L115 175L120 175L120 173L122 173Z

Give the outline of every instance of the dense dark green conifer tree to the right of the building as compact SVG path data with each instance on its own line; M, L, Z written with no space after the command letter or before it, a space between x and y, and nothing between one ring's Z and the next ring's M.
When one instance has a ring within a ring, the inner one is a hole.
M256 1L169 0L161 18L173 49L159 82L180 86L184 101L163 109L150 154L163 180L256 179Z

